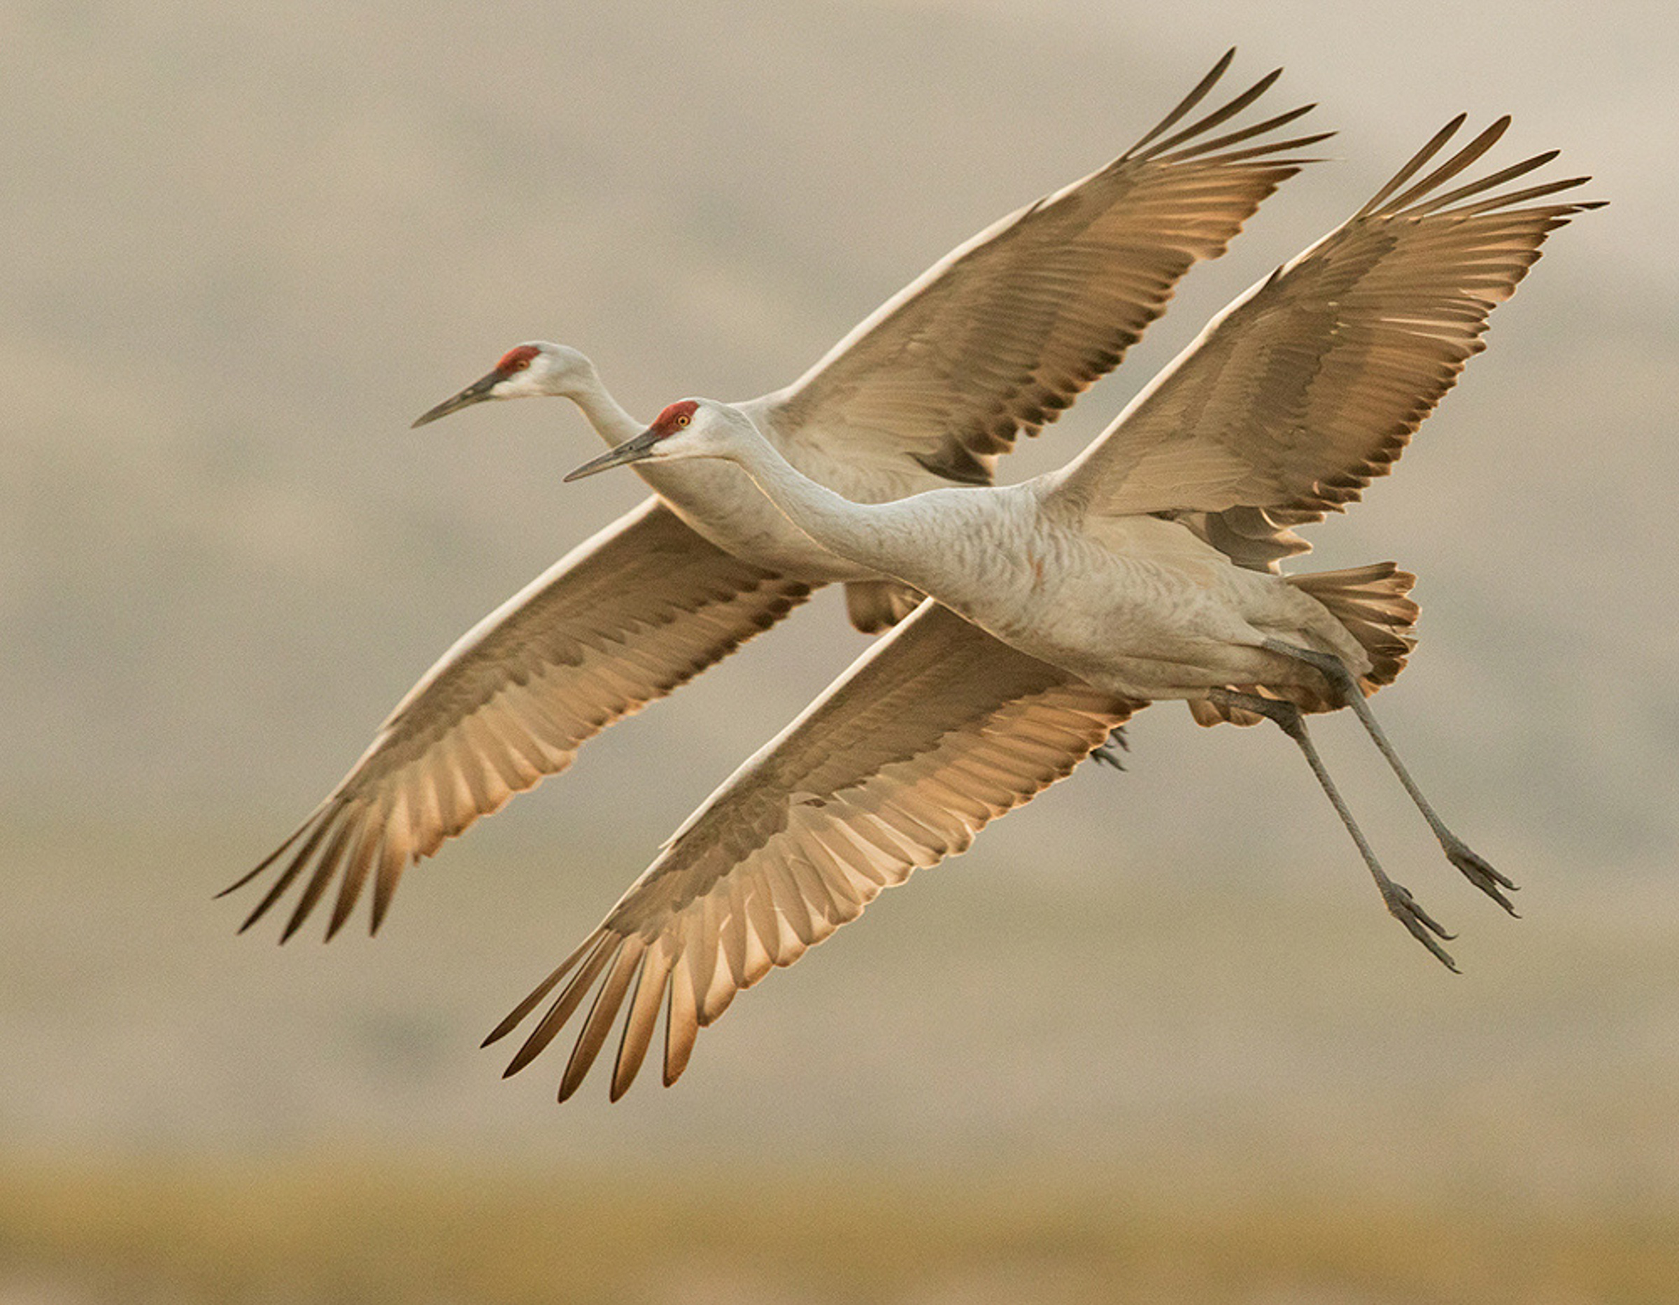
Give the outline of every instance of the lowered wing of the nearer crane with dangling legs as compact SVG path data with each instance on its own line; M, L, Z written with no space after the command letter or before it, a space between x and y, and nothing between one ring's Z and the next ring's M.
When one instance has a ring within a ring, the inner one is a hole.
M688 818L485 1045L564 984L507 1073L524 1068L599 984L561 1100L626 1004L613 1098L640 1070L662 1004L673 1083L735 993L855 920L881 888L965 850L1132 710L923 603Z

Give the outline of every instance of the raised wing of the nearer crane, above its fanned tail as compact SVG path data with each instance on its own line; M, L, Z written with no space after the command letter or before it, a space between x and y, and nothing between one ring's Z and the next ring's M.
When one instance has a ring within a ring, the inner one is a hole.
M1462 121L1224 309L1058 474L1051 499L1106 516L1211 514L1199 522L1206 532L1224 531L1249 564L1263 564L1305 548L1288 526L1321 521L1385 475L1484 348L1488 316L1545 237L1598 207L1533 203L1583 176L1488 193L1555 151L1442 190L1508 118L1407 188Z

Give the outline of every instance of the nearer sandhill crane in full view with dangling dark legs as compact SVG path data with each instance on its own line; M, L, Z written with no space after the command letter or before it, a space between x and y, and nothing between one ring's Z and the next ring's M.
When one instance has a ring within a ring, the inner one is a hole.
M1370 852L1303 719L1350 705L1451 862L1509 910L1514 885L1429 808L1365 704L1414 645L1412 576L1390 563L1284 576L1278 563L1308 548L1293 526L1343 509L1389 470L1483 348L1488 314L1545 237L1597 207L1535 203L1585 178L1489 193L1555 151L1446 190L1508 119L1412 183L1462 121L1224 309L1058 472L855 504L801 475L747 415L707 400L670 405L643 435L573 472L734 462L814 539L930 598L719 788L502 1021L487 1043L564 983L507 1073L541 1053L598 983L561 1100L626 1003L613 1098L640 1070L662 1004L673 1082L698 1028L737 991L796 961L883 887L965 848L1155 699L1185 699L1200 724L1276 721L1389 910L1456 969L1439 942L1449 936Z

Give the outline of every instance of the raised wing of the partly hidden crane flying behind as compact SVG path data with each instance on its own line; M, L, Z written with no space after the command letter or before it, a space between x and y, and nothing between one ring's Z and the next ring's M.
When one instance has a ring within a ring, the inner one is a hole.
M952 250L766 395L759 411L784 447L824 445L863 472L871 459L895 469L908 455L952 480L989 482L992 455L1117 366L1179 277L1222 254L1308 161L1288 151L1330 134L1247 144L1310 104L1216 134L1281 69L1172 131L1231 55L1130 151Z

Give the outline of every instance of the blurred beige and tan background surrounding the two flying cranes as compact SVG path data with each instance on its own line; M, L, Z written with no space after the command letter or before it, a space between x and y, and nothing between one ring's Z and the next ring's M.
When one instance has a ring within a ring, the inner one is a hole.
M0 1302L1679 1297L1679 55L1667 5L0 5ZM1318 729L1454 977L1274 731L1132 727L742 998L682 1083L482 1035L865 640L838 593L411 870L235 937L472 621L636 502L562 403L408 422L529 338L650 417L784 385L1239 45L1335 161L1031 448L1068 460L1446 118L1612 207L1399 474L1380 697L1452 872Z

